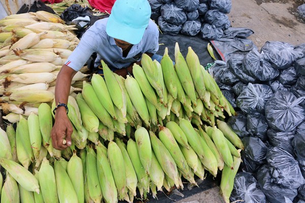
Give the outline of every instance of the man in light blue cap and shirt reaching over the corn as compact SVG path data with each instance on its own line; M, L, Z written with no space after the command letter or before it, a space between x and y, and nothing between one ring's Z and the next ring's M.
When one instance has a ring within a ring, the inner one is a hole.
M150 20L151 8L147 0L117 0L109 18L98 20L90 27L57 75L55 87L55 123L51 137L53 147L64 150L71 146L72 124L67 116L67 103L73 76L93 52L110 69L126 77L132 65L140 64L143 53L153 56L159 49L159 30Z

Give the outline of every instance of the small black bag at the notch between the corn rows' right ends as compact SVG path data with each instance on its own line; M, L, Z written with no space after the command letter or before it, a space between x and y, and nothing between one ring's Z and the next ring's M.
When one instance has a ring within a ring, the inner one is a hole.
M247 129L247 117L242 112L236 112L237 116L229 117L227 124L231 126L233 131L239 138L250 136Z

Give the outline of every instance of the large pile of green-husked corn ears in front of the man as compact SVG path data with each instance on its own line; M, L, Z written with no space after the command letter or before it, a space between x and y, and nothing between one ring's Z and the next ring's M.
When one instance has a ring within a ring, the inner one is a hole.
M222 171L229 202L243 145L222 120L235 112L191 48L185 60L176 45L175 56L174 66L167 49L161 64L144 54L127 79L102 61L105 79L94 75L69 96L66 150L52 148L46 103L38 115L20 116L16 131L0 130L1 202L133 202L137 192L183 189L182 178L197 185L205 170Z

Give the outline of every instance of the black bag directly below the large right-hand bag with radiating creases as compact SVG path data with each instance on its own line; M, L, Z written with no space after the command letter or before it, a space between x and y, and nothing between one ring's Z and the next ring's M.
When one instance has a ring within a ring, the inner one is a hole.
M268 129L267 131L267 136L272 146L279 147L292 155L293 147L291 142L294 138L294 134L294 131L284 132L272 128Z

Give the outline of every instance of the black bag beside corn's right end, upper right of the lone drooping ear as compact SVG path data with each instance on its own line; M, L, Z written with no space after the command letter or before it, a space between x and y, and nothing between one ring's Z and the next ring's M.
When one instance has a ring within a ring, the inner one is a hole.
M242 151L242 157L252 160L256 164L266 162L267 146L259 138L245 137L242 140L245 150Z

